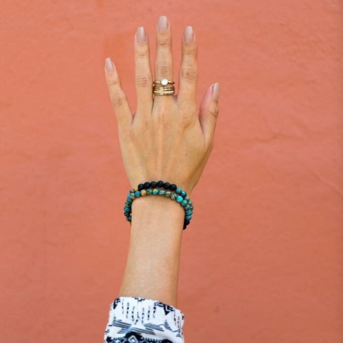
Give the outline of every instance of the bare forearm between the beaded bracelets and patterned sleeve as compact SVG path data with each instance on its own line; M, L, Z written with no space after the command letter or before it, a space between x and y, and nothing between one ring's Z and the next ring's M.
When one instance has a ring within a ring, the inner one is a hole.
M155 299L177 307L184 216L183 207L169 198L147 196L133 201L119 296Z

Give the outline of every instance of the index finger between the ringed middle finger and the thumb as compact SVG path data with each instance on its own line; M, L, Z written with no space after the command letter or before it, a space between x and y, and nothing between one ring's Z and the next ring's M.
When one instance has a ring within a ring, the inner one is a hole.
M187 26L181 47L181 66L177 102L196 101L198 81L198 44L192 26Z

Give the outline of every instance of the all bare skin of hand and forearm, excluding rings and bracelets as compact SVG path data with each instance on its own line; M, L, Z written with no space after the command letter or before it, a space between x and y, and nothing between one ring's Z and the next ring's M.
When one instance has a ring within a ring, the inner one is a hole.
M144 28L139 27L134 37L135 113L109 58L105 60L105 78L131 187L163 180L190 196L213 148L219 84L208 87L198 110L198 46L192 27L185 28L181 44L177 95L152 93L154 80L173 80L172 31L165 16L156 24L155 78ZM153 299L177 307L183 221L184 210L176 201L159 196L133 201L129 253L119 296Z

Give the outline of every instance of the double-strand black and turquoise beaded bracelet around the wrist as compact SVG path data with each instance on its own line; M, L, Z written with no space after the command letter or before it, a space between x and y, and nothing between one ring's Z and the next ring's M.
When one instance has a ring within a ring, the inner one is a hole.
M158 188L164 188L158 189ZM174 193L175 191L175 193ZM130 222L131 225L131 204L132 202L139 197L145 197L147 195L161 195L166 196L172 200L176 200L181 204L181 206L185 210L185 219L184 219L184 228L190 223L193 214L193 202L187 196L187 193L182 190L180 187L177 187L175 184L169 184L168 182L163 181L152 181L152 182L145 182L144 184L139 184L138 186L132 188L130 193L127 195L127 199L124 205L124 215L126 216L126 220Z

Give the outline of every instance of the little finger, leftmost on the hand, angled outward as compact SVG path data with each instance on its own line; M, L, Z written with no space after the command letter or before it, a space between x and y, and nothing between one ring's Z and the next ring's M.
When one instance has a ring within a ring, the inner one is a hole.
M133 116L129 102L123 90L115 64L110 58L105 60L105 77L118 124L122 126L131 125Z

